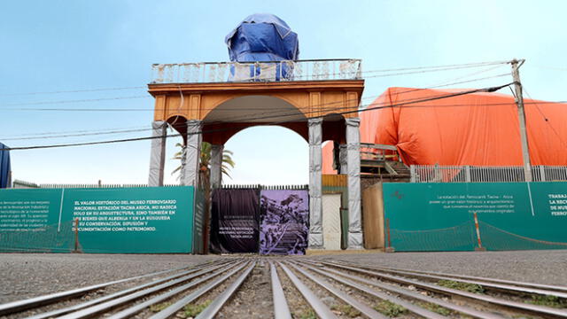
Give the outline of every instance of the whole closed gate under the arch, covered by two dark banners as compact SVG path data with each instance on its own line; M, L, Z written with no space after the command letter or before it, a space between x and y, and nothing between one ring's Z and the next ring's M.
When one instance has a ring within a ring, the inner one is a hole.
M212 199L214 253L305 254L307 185L225 186Z

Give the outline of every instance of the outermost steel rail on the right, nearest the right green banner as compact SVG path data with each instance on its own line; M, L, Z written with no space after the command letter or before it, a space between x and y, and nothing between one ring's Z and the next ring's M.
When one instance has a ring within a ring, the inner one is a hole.
M348 263L345 263L345 262L340 262L340 263L348 265ZM397 275L400 275L400 276L410 276L410 277L426 278L426 279L432 279L432 280L456 280L456 281L459 281L459 282L462 282L462 283L467 283L467 284L480 284L483 287L493 288L493 289L496 289L496 290L501 290L501 291L506 291L506 292L536 293L536 294L540 294L540 295L544 295L544 296L552 295L552 296L555 296L555 297L558 297L558 298L567 299L567 292L556 292L556 291L542 290L542 289L536 289L536 288L531 288L531 287L520 287L520 286L510 285L510 284L496 284L496 283L490 283L490 282L485 281L485 280L471 280L471 279L464 279L464 278L455 278L455 277L451 277L451 276L419 274L419 273L416 273L416 272L413 272L413 271L407 271L407 270L394 270L394 269L384 270L383 268L375 268L375 267L369 267L369 266L358 266L358 267L368 268L368 269L377 270L377 271L383 271L383 272L386 272L386 273L397 274Z

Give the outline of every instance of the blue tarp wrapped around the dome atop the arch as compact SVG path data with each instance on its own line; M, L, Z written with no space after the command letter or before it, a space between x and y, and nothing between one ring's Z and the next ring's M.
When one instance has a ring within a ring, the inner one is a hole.
M298 35L273 14L252 14L244 19L224 42L230 61L281 61L299 58Z

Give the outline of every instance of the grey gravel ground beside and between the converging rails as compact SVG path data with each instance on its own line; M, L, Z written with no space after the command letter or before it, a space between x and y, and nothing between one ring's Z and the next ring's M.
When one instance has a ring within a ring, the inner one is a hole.
M313 252L311 252L313 253ZM62 292L92 284L140 276L172 268L190 268L210 261L226 260L227 256L187 255L187 254L39 254L7 253L0 255L0 303L27 299L43 294ZM232 257L237 257L236 255ZM404 268L424 271L437 271L470 276L486 276L501 279L558 284L567 286L567 251L522 251L522 252L460 252L460 253L376 253L376 252L318 252L309 256L266 257L258 255L240 256L258 261L250 276L238 292L228 300L219 317L262 318L273 315L271 301L271 280L268 261L313 259L322 261L346 261L369 267ZM295 317L309 316L312 311L300 293L277 267L283 291ZM291 268L307 286L318 295L328 307L345 306L330 292L311 283L302 274ZM239 272L240 273L240 272ZM313 274L311 270L307 273ZM320 276L315 274L316 276ZM19 318L69 306L77 302L92 300L100 296L142 284L166 274L154 275L136 281L116 284L97 292L90 292L80 300L67 300L61 305L48 305L30 309L10 317ZM237 276L229 280L195 303L214 300ZM330 278L325 280L332 281ZM331 283L339 290L353 296L353 290L343 284ZM189 292L185 292L187 294ZM175 301L183 295L176 296ZM373 298L355 295L353 298L374 305ZM139 302L139 301L138 301ZM136 317L147 317L150 310ZM342 312L338 315L343 315Z

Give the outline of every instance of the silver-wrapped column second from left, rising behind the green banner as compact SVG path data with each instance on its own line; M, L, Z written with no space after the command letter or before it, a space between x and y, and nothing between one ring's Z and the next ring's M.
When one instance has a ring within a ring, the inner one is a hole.
M198 187L198 165L201 158L201 127L198 120L187 121L187 144L185 146L185 166L182 184Z

